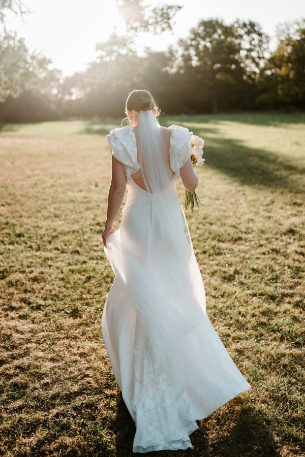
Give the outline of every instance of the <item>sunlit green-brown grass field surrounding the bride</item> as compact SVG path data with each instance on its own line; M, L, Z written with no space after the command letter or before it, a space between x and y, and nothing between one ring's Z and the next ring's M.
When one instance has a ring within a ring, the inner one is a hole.
M101 333L106 135L120 120L0 124L1 455L135 455ZM198 421L194 450L149 455L305 455L305 116L160 123L204 138L201 206L186 215L208 314L253 388Z

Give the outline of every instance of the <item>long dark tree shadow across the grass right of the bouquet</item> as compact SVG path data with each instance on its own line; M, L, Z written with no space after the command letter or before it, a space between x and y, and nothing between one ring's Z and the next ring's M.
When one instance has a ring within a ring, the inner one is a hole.
M258 117L258 115L253 116L253 119L249 119L248 122L245 118L244 122L257 123L258 125L274 125L276 122L270 115L262 114L261 122L259 122ZM286 122L285 115L279 115L279 117L283 122ZM236 115L237 122L240 122L240 118L241 116ZM234 115L219 115L217 119L234 121ZM305 168L298 167L288 158L272 151L246 146L242 140L236 138L221 138L219 128L211 127L208 124L208 119L204 123L204 116L170 117L164 125L168 126L175 121L192 129L195 135L204 138L203 157L206 159L206 166L215 168L244 185L278 190L283 188L293 193L304 192L302 175L305 174ZM219 135L219 137L209 138L211 133Z

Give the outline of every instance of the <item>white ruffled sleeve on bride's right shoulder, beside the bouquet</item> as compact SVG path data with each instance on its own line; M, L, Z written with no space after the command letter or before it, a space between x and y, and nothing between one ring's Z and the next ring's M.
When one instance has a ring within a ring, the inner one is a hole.
M169 139L169 159L170 168L176 174L176 178L180 178L180 168L185 164L189 157L192 155L192 148L190 146L193 132L188 128L181 125L170 125L170 139Z

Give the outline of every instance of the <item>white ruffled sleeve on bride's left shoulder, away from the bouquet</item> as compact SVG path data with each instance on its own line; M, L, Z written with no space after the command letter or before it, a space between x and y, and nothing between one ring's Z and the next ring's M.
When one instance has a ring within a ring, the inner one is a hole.
M125 165L127 175L140 169L137 162L136 137L130 126L114 128L107 135L112 155Z

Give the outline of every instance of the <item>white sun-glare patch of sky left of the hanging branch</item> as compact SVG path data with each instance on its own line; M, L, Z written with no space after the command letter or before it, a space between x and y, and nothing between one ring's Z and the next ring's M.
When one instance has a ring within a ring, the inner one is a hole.
M124 20L113 0L87 0L85 4L32 0L27 6L34 12L23 21L11 14L7 28L17 30L29 49L52 58L52 68L62 70L64 76L85 70L97 57L95 45L106 41L112 31L124 32Z

